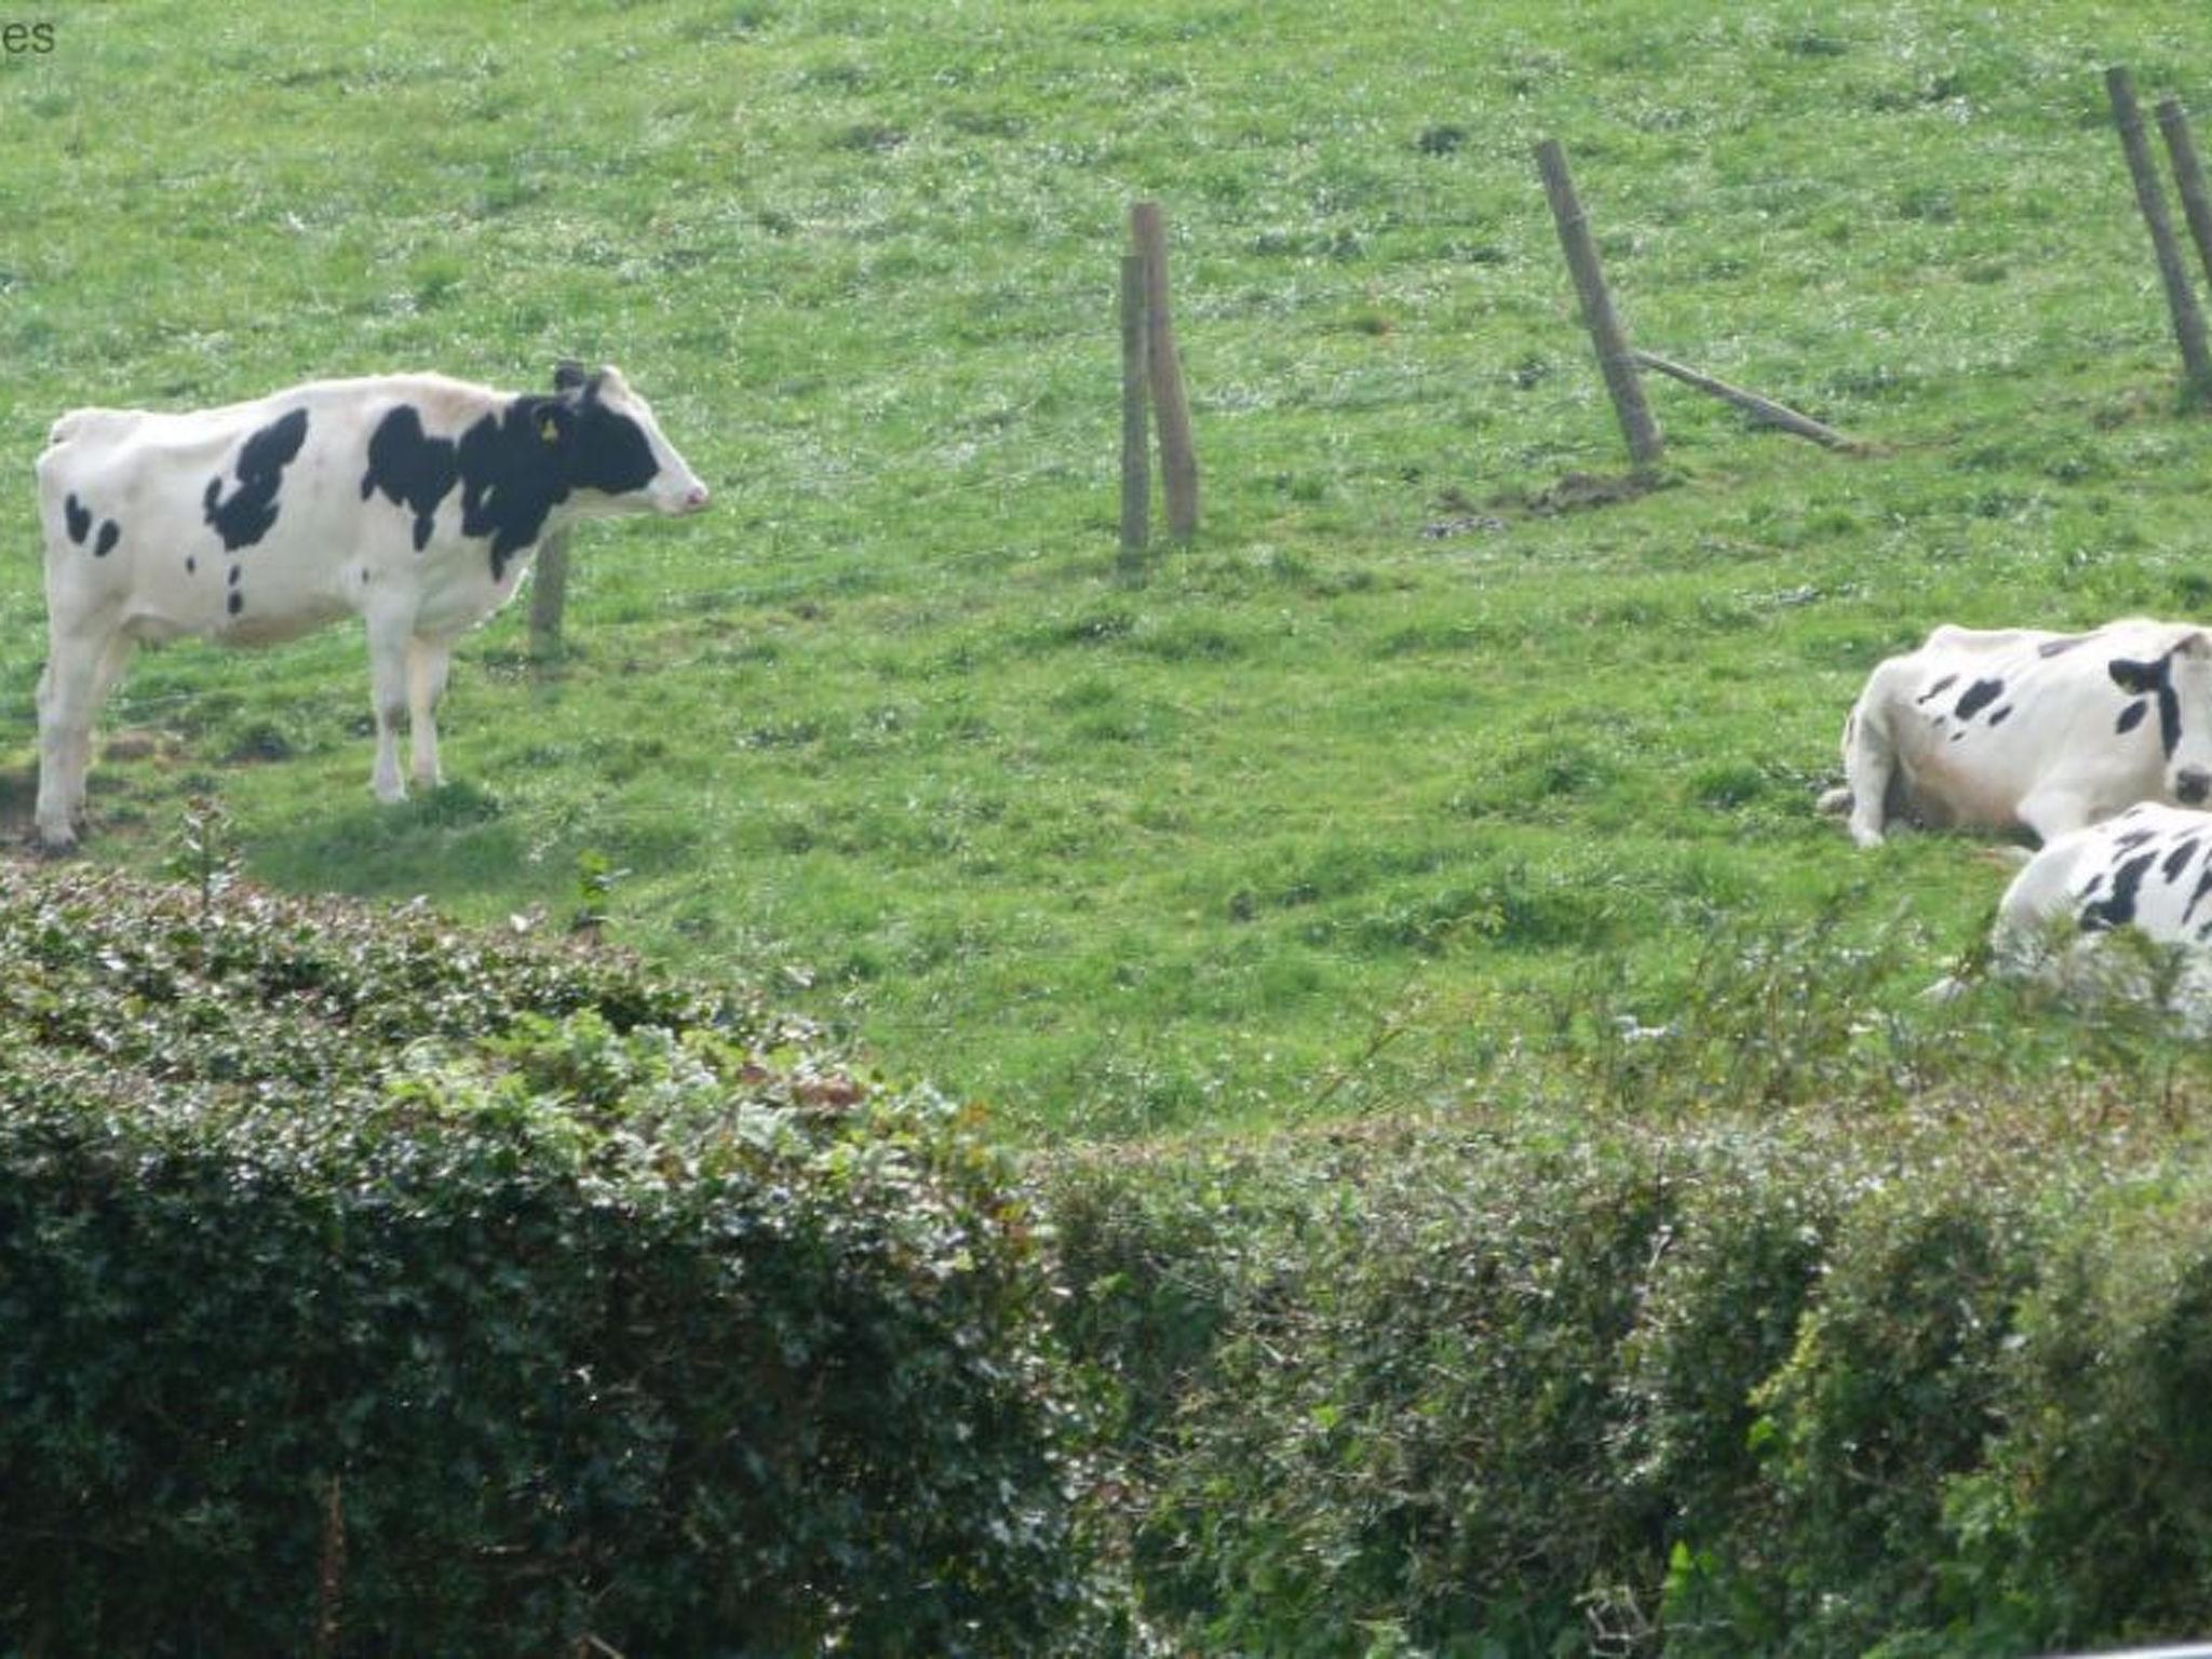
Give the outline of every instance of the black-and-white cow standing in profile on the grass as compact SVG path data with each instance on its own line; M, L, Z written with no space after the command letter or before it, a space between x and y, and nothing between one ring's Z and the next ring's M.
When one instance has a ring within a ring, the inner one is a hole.
M398 801L400 719L416 783L438 783L453 641L513 595L549 531L706 500L613 367L564 363L551 396L394 374L190 414L62 416L38 458L40 841L75 841L93 717L137 641L250 646L363 617L374 787Z

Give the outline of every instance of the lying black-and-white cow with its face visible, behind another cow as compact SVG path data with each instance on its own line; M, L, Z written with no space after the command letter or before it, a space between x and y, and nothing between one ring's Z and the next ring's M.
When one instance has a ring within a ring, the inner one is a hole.
M1880 664L1843 726L1860 847L1896 821L2051 841L2137 801L2212 796L2212 637L2130 617L2093 633L1938 628Z

